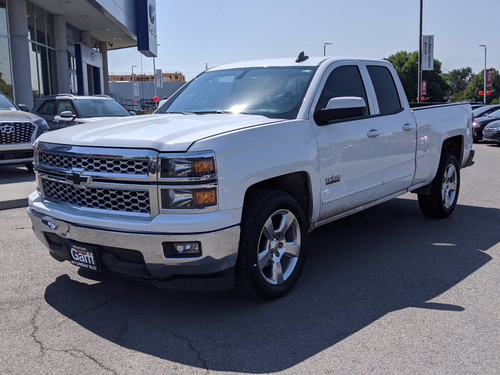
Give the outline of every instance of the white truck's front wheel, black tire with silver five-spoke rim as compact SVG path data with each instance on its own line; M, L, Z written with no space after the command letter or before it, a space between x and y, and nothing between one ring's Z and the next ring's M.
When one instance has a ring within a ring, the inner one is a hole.
M300 275L306 246L307 224L298 202L283 191L258 191L243 207L237 288L264 300L286 294Z

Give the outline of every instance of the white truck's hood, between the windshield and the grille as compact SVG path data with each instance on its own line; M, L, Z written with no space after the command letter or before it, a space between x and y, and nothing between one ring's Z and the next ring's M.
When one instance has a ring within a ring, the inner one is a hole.
M196 140L281 119L253 114L146 114L82 123L42 134L37 141L93 147L186 151Z

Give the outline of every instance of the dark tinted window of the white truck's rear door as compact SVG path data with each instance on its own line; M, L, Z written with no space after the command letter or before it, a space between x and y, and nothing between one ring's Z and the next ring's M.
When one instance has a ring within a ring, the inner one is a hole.
M370 75L371 83L375 89L380 114L394 112L401 108L396 84L385 66L366 66Z

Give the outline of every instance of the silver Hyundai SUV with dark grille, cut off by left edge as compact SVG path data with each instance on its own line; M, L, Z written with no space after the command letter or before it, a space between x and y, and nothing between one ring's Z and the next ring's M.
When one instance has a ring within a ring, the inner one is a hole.
M0 91L0 165L24 164L33 171L32 143L48 131L48 126L43 118L28 110L24 104L15 105Z

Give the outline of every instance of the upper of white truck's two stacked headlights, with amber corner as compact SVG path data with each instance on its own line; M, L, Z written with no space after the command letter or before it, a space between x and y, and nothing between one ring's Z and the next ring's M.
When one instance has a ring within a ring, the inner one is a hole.
M211 157L162 158L160 159L161 178L193 178L215 174L215 160Z

